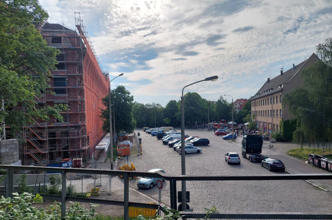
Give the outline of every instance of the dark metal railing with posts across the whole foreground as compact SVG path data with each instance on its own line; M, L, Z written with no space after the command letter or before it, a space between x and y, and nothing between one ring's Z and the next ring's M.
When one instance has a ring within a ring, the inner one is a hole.
M61 217L66 214L66 201L88 202L108 205L124 206L124 220L129 219L129 206L138 208L157 209L157 204L146 204L139 202L129 202L129 177L154 177L164 178L170 182L170 203L171 208L176 209L177 205L177 181L265 181L265 180L332 180L332 174L281 174L281 175L255 175L255 176L169 176L162 172L133 172L118 170L99 170L99 169L74 169L74 168L53 168L53 167L27 167L27 166L10 166L0 165L0 169L7 170L6 191L0 190L0 193L6 193L7 197L13 198L14 192L14 170L32 170L58 172L62 174L62 194L47 195L41 194L46 199L61 200ZM67 173L96 174L96 175L115 175L124 176L124 201L106 200L106 199L89 199L73 196L66 196ZM205 212L180 212L184 218L203 218ZM321 212L220 212L212 213L209 218L224 219L332 219L332 213Z

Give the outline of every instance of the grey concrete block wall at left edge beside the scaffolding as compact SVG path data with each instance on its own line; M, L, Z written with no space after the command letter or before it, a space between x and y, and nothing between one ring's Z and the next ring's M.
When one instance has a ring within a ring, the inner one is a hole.
M0 141L0 159L4 164L16 163L19 161L19 143L17 139Z

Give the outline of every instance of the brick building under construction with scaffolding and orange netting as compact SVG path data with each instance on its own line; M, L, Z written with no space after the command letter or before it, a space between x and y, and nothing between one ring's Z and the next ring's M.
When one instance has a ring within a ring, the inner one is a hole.
M110 85L108 72L101 68L79 13L75 13L75 30L63 24L34 25L48 46L60 50L57 70L51 71L53 78L47 88L55 94L43 94L37 100L38 107L67 104L68 111L61 112L63 122L55 118L35 120L25 127L26 141L20 157L25 165L45 165L65 158L88 159L105 136L99 116L100 108L105 108L102 98Z

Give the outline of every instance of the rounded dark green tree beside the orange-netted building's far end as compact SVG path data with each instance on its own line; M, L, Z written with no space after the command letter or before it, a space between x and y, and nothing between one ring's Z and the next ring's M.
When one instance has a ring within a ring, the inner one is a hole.
M117 86L111 92L112 114L114 110L115 117L112 115L112 125L115 120L115 130L120 132L131 133L136 127L136 121L133 117L133 96L125 89L123 85ZM101 119L103 120L103 131L110 132L110 114L109 114L109 97L106 95L102 100L106 109L101 109Z

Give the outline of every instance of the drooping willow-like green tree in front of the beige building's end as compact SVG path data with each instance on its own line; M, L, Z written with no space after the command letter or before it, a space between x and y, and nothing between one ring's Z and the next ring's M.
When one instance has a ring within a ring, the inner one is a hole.
M332 140L332 67L316 62L301 73L304 85L296 87L283 99L296 119L293 141L303 145Z

